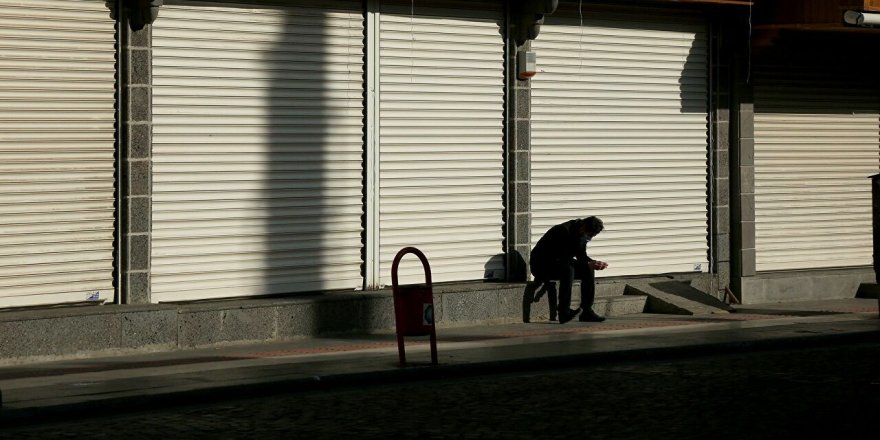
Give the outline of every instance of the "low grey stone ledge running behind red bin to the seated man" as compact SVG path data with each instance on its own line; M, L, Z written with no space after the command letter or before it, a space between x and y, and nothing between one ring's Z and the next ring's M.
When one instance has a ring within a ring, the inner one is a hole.
M523 322L526 316L535 322L548 319L547 298L526 304L526 288L526 283L435 285L437 326ZM624 288L620 280L600 282L593 309L605 316L641 313L644 298L623 297ZM576 288L574 304L579 296ZM13 309L0 312L0 365L393 328L390 289L179 304Z

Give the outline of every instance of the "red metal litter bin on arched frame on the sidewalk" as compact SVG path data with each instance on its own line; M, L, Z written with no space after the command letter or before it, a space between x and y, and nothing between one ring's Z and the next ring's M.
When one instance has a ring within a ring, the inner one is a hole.
M416 254L422 260L425 269L425 285L399 286L397 284L397 266L403 256ZM406 364L406 353L403 349L404 336L431 336L431 363L437 364L437 332L434 329L434 294L431 289L431 266L422 251L414 247L405 247L394 257L391 264L391 291L394 294L394 320L397 326L397 351L400 354L400 365Z

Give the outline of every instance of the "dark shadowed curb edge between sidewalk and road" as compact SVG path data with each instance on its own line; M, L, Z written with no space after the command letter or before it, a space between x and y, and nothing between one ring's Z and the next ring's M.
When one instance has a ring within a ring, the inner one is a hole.
M543 355L530 358L507 359L460 364L414 365L408 368L384 369L356 373L339 373L310 378L286 378L259 383L218 385L203 389L177 390L160 394L96 398L88 402L62 403L43 407L9 409L0 406L0 429L32 423L67 421L94 417L100 403L101 415L146 411L156 407L194 405L220 400L233 400L282 393L300 393L331 390L370 384L393 384L408 381L477 377L487 374L509 374L525 371L555 370L610 362L678 359L763 350L800 349L840 343L864 343L880 340L880 329L831 334L811 334L768 339L728 342L696 343L690 345L623 349L605 352ZM0 390L2 404L2 390Z

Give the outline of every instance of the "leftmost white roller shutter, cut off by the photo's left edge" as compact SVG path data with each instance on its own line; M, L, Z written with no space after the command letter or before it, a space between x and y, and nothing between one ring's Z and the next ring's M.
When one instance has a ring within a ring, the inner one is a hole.
M114 298L115 24L0 0L0 307Z

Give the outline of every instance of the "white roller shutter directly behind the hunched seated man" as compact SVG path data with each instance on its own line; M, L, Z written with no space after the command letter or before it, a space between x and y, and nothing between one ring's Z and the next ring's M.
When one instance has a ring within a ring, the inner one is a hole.
M706 25L562 12L532 48L532 243L596 215L601 275L707 271Z

